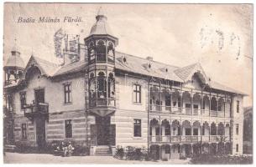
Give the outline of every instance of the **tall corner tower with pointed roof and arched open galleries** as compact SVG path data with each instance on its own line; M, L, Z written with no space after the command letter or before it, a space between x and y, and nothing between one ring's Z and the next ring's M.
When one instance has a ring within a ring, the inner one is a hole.
M118 38L112 34L102 8L85 43L88 48L88 110L104 117L116 108L114 67Z

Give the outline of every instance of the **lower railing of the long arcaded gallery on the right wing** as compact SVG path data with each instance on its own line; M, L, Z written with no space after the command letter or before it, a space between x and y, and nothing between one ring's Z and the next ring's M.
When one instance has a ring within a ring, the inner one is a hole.
M220 142L221 135L149 135L151 143L198 143L198 142ZM229 141L230 137L225 136L222 142Z

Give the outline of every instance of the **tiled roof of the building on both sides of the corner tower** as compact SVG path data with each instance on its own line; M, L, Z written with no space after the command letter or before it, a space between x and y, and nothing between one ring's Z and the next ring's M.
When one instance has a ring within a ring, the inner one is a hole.
M79 61L64 66L58 66L56 63L51 63L42 58L37 58L34 56L32 57L34 58L36 63L39 64L40 68L42 68L41 70L43 70L44 73L46 73L50 77L56 77L61 74L76 73L86 68L86 61ZM123 61L123 58L126 59L125 62ZM153 60L150 61L147 58L139 58L127 53L116 52L115 68L119 70L127 71L130 73L139 73L156 78L165 78L180 83L184 83L185 78L188 78L191 73L195 73L195 69L197 69L198 67L201 68L200 63L193 63L189 66L185 66L184 68L179 68L169 64L155 62ZM202 68L201 73L204 73ZM224 90L235 94L244 94L243 92L229 88L215 81L209 81L208 83L213 89Z

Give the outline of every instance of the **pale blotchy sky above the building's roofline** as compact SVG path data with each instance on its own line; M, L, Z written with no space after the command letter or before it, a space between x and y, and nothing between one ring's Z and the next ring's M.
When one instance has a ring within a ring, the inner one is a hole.
M56 62L54 34L90 33L102 7L118 51L183 67L199 62L212 80L253 96L253 6L249 4L5 3L4 61L16 43L24 62L31 54ZM81 17L81 23L63 18ZM18 23L18 18L60 18L60 23ZM16 38L16 42L15 42ZM82 40L81 40L82 41Z

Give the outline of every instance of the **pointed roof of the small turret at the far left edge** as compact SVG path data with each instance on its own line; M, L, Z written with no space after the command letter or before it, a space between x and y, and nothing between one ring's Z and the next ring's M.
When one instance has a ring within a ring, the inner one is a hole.
M14 54L13 54L14 53ZM24 68L25 63L24 60L19 56L18 52L13 51L12 55L8 58L7 63L4 67L17 67Z

